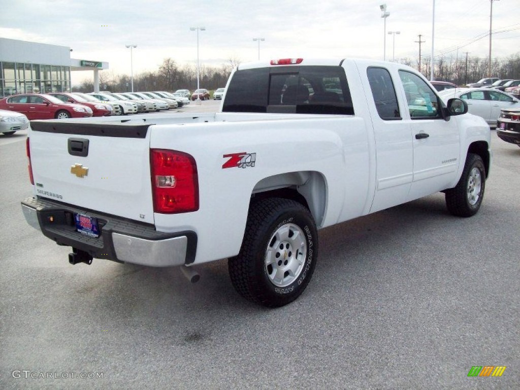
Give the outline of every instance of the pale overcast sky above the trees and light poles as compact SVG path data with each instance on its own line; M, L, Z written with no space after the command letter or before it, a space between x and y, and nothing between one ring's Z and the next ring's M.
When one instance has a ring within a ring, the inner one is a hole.
M0 0L0 37L69 46L72 58L109 62L109 72L155 71L171 57L220 66L287 57L383 58L383 0ZM395 35L395 57L430 56L433 0L388 0L386 31ZM435 1L435 56L486 58L490 0ZM520 53L520 0L493 1L492 57ZM478 39L480 38L480 39ZM393 36L386 34L386 59ZM72 81L92 72L72 72Z

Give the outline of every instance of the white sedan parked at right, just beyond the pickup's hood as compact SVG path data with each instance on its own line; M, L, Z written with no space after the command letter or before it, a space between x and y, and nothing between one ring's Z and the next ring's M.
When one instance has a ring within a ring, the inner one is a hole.
M445 103L451 98L464 100L467 103L467 111L484 118L490 127L497 126L501 109L520 108L520 100L496 89L446 89L439 92L439 96Z

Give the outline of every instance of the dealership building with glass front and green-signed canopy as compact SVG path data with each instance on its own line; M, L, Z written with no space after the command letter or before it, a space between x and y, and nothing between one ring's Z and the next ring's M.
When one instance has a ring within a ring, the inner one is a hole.
M99 71L108 62L74 59L67 46L0 38L0 97L14 94L70 92L70 74L94 72L99 92Z

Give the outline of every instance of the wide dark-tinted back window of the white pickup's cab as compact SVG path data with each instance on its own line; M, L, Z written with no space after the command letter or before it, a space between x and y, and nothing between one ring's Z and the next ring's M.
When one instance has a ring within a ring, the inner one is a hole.
M353 115L342 67L275 67L239 70L231 79L224 112Z

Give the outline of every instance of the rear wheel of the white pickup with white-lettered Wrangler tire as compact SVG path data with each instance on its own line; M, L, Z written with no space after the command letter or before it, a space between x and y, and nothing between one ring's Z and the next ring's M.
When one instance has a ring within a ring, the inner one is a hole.
M240 253L228 260L229 276L247 300L280 307L305 290L317 256L316 225L306 207L264 199L250 207Z

